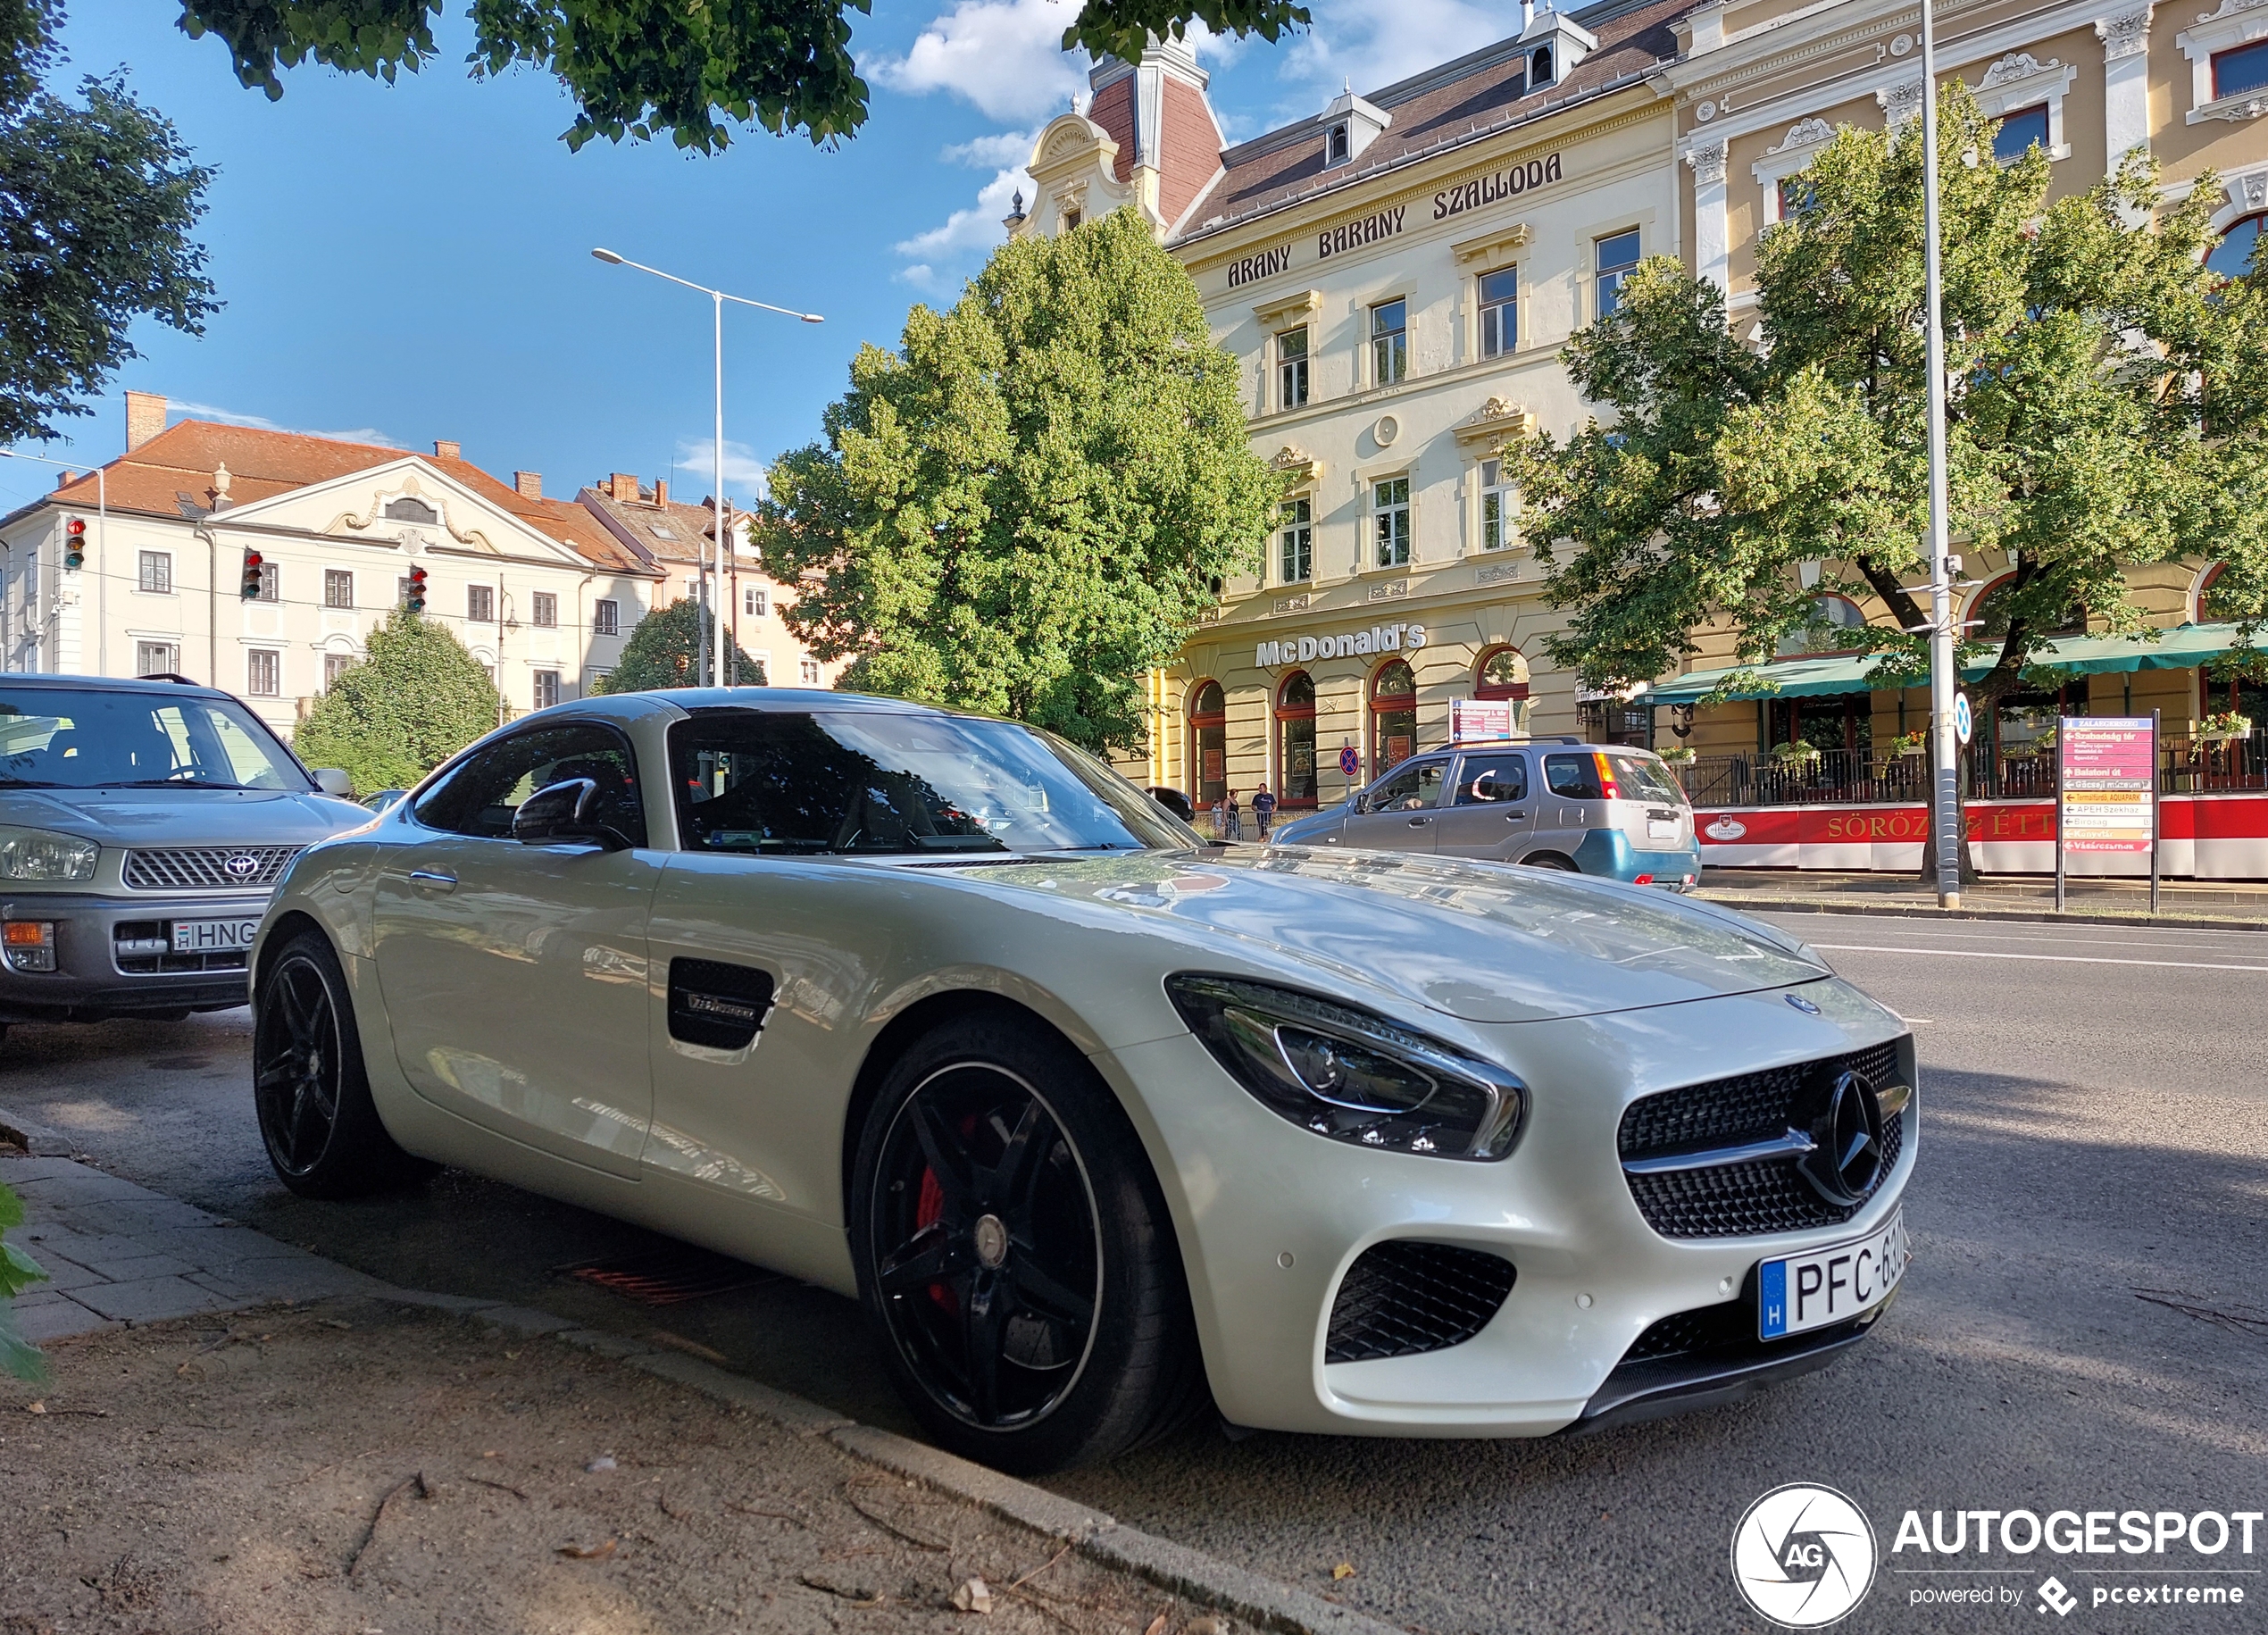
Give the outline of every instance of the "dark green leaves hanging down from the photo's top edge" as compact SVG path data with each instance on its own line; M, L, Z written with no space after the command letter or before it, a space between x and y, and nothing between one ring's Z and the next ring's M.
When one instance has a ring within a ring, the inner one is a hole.
M23 2L23 0L18 0ZM576 100L567 145L667 136L717 152L730 125L828 141L866 122L866 82L850 54L848 11L871 0L472 0L474 75L515 63L551 73ZM181 0L181 27L218 34L236 77L284 95L284 68L318 61L379 75L415 73L440 54L442 0ZM1277 39L1306 23L1293 0L1086 0L1064 34L1141 52L1145 34L1200 20L1216 34Z

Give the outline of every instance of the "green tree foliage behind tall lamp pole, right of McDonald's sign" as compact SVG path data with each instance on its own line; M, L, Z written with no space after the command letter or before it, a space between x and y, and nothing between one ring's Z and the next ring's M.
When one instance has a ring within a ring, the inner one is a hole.
M2005 635L1964 644L1991 662L1982 696L2021 687L2073 608L2139 630L2123 569L2143 562L2220 558L2227 605L2259 619L2268 277L2202 268L2218 186L2152 220L2134 156L2050 204L2046 154L1994 163L1960 84L1939 109L1950 533L1969 571L2014 574ZM1828 592L1880 596L1905 630L1837 635L1926 674L1921 120L1844 129L1808 184L1758 247L1753 345L1717 286L1649 261L1565 354L1610 422L1506 451L1572 612L1551 653L1592 685L1676 669L1710 619L1742 664L1769 660ZM1817 587L1801 562L1826 562Z

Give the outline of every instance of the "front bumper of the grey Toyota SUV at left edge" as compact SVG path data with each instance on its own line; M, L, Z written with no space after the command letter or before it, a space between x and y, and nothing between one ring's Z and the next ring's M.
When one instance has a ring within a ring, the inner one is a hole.
M249 950L227 955L122 952L163 939L177 918L256 921L268 891L25 891L0 896L0 918L54 925L54 971L0 959L0 1023L220 1011L252 993Z

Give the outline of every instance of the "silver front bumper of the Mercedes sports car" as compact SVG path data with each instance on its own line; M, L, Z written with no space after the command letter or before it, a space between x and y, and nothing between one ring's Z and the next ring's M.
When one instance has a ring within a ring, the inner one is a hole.
M1111 1052L1175 1206L1207 1372L1234 1424L1338 1435L1549 1435L1724 1401L1826 1365L1867 1329L1749 1352L1624 1356L1665 1318L1744 1306L1760 1261L1887 1222L1912 1175L1896 1166L1846 1222L1740 1238L1665 1238L1624 1181L1628 1102L1744 1070L1817 1061L1903 1032L1842 982L1504 1027L1424 1027L1483 1045L1531 1086L1529 1123L1499 1163L1363 1152L1266 1111L1188 1036ZM1919 1116L1919 1095L1905 1118ZM1334 1304L1374 1245L1483 1249L1517 1277L1472 1338L1408 1356L1327 1361ZM1880 1315L1869 1313L1871 1315Z

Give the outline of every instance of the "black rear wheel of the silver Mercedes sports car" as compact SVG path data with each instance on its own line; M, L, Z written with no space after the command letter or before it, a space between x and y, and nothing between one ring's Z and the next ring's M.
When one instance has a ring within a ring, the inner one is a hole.
M302 932L261 971L252 1104L277 1179L299 1197L415 1186L440 1166L395 1145L370 1100L347 973L322 932Z

